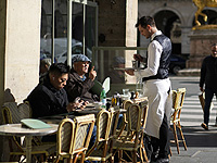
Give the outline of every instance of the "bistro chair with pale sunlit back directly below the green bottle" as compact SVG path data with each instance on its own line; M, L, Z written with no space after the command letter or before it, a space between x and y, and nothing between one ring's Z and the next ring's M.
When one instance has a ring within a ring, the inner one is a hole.
M111 159L110 129L111 113L103 109L97 115L97 140L92 148L88 150L85 160L104 163ZM112 159L110 162L113 162Z

